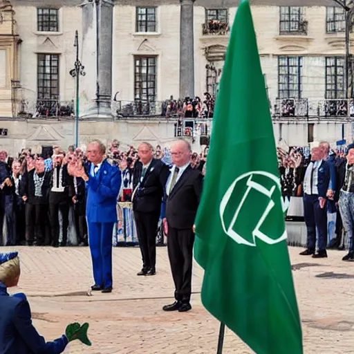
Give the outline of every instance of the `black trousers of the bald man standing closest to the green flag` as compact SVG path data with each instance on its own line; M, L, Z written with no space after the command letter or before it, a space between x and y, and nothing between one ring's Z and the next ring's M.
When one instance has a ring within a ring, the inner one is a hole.
M172 277L176 288L174 297L177 301L188 303L192 293L194 232L169 227L167 250Z

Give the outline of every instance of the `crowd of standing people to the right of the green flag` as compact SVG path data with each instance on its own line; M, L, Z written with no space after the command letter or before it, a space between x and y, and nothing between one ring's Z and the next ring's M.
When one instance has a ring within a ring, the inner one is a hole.
M347 242L343 260L354 261L354 145L331 149L320 142L306 153L278 148L278 158L283 197L303 197L308 241L301 254L327 257L326 249L344 249Z

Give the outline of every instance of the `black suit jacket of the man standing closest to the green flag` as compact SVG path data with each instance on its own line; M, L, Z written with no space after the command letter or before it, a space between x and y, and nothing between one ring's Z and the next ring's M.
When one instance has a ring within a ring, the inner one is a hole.
M162 206L162 217L167 218L169 227L185 230L192 229L201 193L203 189L203 174L189 165L176 185L165 198Z

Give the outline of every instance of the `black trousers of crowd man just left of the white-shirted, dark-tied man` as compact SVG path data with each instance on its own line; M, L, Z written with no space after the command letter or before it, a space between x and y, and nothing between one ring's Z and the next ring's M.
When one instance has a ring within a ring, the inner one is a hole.
M32 244L36 241L41 245L44 243L48 205L26 203L26 241Z

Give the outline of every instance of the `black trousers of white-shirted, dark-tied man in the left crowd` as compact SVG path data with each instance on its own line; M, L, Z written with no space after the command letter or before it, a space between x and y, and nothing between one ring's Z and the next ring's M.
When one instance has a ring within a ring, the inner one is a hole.
M68 200L60 201L59 203L49 204L50 227L53 245L59 243L59 210L62 213L63 219L63 240L62 244L66 245L68 241L68 225L69 225L69 210L70 204Z

